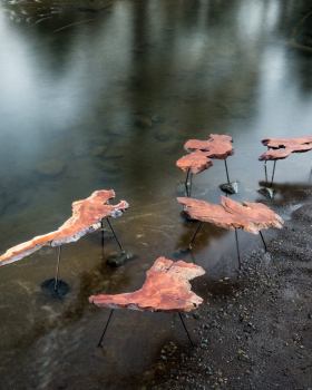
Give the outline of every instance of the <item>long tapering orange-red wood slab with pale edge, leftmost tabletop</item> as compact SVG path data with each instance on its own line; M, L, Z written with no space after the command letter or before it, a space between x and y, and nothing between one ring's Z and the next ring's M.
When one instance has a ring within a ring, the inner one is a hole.
M126 201L117 205L108 204L115 197L113 189L94 192L89 197L72 203L72 216L67 220L57 231L39 235L30 241L9 248L0 256L0 266L21 260L42 246L59 246L78 241L87 233L100 227L105 217L118 216L129 207Z

